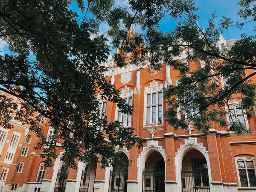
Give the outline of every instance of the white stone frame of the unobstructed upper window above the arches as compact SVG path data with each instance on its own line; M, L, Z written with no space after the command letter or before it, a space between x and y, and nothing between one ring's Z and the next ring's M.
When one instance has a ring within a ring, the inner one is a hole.
M157 93L156 95L156 104L153 104L153 94ZM158 103L158 93L162 93L162 103ZM150 95L150 105L147 105L148 103L148 95ZM156 119L157 122L153 123L153 109L152 107L156 106ZM159 120L159 106L162 106L162 122L158 122ZM147 110L150 108L150 123L147 123ZM145 87L144 91L144 122L143 127L150 127L150 126L160 126L163 125L163 83L158 84L157 80L152 80L149 84L149 86Z

